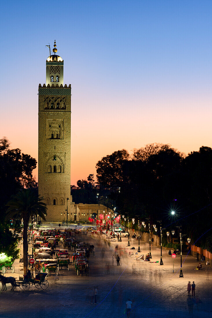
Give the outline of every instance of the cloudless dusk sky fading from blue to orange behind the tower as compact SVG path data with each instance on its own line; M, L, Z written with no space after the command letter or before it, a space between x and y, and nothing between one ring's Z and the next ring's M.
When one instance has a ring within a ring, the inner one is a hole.
M0 138L36 159L56 39L72 85L71 184L119 149L212 147L212 1L4 1L1 29Z

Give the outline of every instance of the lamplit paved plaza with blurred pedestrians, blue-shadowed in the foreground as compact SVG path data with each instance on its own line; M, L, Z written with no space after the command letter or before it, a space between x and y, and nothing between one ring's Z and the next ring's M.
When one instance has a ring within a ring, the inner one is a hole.
M126 317L125 303L128 298L133 301L131 317L212 317L212 268L202 266L202 270L193 270L198 264L192 256L183 255L183 275L180 273L180 255L174 260L163 250L164 265L135 260L138 241L130 239L135 247L134 255L129 256L126 250L118 250L120 266L116 260L112 266L112 255L115 246L127 248L127 238L121 243L108 244L100 238L81 236L82 241L89 241L96 247L95 256L89 259L89 276L77 276L73 266L70 271L60 270L58 277L48 277L49 288L39 291L33 286L29 291L16 287L15 291L0 292L0 317ZM149 252L149 243L141 241L142 254ZM160 249L151 246L151 261L160 261ZM72 255L73 252L70 252ZM186 258L186 259L185 259ZM20 265L15 262L16 272L6 276L18 278ZM206 268L208 270L206 271ZM134 273L133 273L134 271ZM187 297L187 283L194 280L196 299ZM97 304L91 304L92 288L97 287Z

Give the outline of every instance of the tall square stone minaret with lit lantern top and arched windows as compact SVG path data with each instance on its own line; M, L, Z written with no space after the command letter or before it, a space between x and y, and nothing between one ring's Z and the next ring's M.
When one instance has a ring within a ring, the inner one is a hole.
M46 84L38 88L38 189L47 204L46 220L61 222L72 203L71 85L63 86L63 59L55 54L55 41L53 53L46 60Z

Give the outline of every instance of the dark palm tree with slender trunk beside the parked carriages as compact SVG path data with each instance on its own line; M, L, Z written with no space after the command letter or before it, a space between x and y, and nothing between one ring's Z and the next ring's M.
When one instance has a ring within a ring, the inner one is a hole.
M46 220L46 203L41 201L35 189L22 189L17 194L11 197L11 200L6 204L8 206L6 218L23 218L23 252L24 252L24 274L28 270L28 242L27 228L30 217L39 215Z

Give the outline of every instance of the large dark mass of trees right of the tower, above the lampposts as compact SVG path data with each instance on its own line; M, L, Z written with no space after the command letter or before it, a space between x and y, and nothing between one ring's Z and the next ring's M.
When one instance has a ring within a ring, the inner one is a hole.
M211 230L200 236L212 227L211 148L202 146L185 156L170 145L153 143L134 149L132 156L115 151L97 162L96 171L102 199L107 189L120 214L162 220L164 226L181 224L192 242L198 240L196 245L210 245Z

